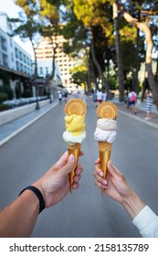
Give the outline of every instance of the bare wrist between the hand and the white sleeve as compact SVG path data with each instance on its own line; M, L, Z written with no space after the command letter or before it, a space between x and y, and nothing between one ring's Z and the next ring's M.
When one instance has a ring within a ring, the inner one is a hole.
M134 219L138 213L145 207L145 204L142 202L142 199L138 197L134 192L129 197L126 197L122 205L127 210L129 215Z

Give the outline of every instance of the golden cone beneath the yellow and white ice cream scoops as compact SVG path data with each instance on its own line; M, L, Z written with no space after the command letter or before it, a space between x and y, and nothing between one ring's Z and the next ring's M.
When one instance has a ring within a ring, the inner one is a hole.
M75 155L75 166L73 170L69 173L70 194L72 193L73 178L75 176L75 169L78 165L79 153L80 153L80 144L74 144L74 145L68 144L68 155L71 155L71 154Z

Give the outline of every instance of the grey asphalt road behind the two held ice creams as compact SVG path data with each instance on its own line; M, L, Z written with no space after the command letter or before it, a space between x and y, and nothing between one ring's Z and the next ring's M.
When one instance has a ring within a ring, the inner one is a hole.
M0 209L42 176L67 150L62 139L64 105L62 102L0 148ZM121 113L117 121L111 160L146 204L158 213L157 130ZM94 185L94 161L98 157L98 145L93 139L96 122L96 108L89 101L87 139L82 144L85 155L79 161L84 166L80 187L39 215L32 237L140 237L125 209L102 196Z

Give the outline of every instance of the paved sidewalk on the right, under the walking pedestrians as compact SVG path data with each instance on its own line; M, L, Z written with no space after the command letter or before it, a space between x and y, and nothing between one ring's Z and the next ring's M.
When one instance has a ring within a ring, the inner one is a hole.
M122 114L128 115L135 120L138 120L142 123L146 123L156 129L158 129L158 111L154 104L153 104L153 109L152 109L153 118L151 120L145 120L144 119L146 117L145 101L137 104L137 113L136 114L134 114L133 112L130 113L129 109L127 108L127 104L125 104L124 102L119 102L118 99L113 99L112 102L117 105L118 112L121 112Z

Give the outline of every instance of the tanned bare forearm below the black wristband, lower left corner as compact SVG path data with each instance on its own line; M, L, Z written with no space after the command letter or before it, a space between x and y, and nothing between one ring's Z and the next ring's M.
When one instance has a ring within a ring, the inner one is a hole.
M0 212L0 237L29 237L39 213L39 201L30 190Z

